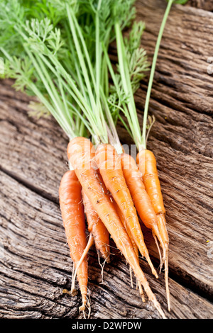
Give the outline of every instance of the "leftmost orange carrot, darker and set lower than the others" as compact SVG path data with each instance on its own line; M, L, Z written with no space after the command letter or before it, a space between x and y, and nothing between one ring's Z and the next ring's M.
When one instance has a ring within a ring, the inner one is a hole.
M78 265L82 254L84 253L84 249L87 247L81 191L82 186L75 175L75 171L67 171L60 181L60 210L62 213L63 225L65 227L67 243L70 247L70 256L75 266ZM82 295L82 306L80 307L80 310L84 311L87 305L87 256L84 256L82 264L80 264L77 269L77 280ZM73 288L71 289L71 292L74 294Z

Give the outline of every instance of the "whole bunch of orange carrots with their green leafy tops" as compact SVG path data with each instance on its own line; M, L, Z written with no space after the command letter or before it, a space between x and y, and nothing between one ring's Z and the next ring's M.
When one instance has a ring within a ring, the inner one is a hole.
M36 96L38 102L31 103L34 113L53 115L69 138L69 170L62 176L59 198L75 267L71 292L75 293L77 276L82 295L80 310L84 315L87 309L90 312L89 248L95 244L99 256L108 263L111 236L136 276L142 299L145 290L148 299L165 318L139 263L141 255L158 278L143 239L141 221L153 233L160 269L165 266L170 310L165 208L155 156L146 149L146 141L153 123L148 118L148 102L155 63L163 28L174 2L185 1L169 0L165 10L151 66L142 131L133 95L149 64L141 47L144 23L134 21L134 0L0 3L3 77L15 79L16 89ZM124 38L122 30L130 26L129 37ZM116 68L108 55L112 42L116 43L118 51ZM136 144L136 159L124 152L119 141L118 119Z

